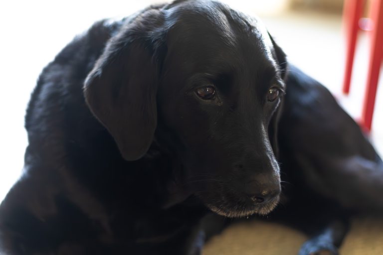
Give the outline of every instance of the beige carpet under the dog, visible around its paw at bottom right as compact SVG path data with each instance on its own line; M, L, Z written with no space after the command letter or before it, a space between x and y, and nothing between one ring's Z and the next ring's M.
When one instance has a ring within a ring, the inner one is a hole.
M233 225L206 244L203 255L297 255L302 233L274 223ZM341 255L383 255L383 220L354 219Z

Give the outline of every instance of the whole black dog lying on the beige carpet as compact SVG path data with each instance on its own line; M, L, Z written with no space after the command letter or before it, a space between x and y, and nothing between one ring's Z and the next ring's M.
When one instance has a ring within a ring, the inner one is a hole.
M300 253L336 254L352 210L383 209L355 122L259 21L214 1L96 23L43 70L25 126L2 254L196 255L225 225L208 209L264 215L280 197L271 218L313 235Z

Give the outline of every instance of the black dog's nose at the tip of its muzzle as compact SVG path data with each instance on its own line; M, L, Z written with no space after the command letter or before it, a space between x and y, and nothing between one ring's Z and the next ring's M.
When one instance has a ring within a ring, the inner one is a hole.
M252 182L246 185L246 194L250 201L254 204L267 203L273 200L281 193L281 186L274 185L257 185Z

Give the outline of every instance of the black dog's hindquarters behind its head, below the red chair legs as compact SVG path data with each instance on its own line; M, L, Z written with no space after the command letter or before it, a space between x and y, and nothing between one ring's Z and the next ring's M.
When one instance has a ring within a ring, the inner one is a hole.
M347 209L382 212L382 159L358 124L298 68L290 66L286 84L279 144L291 182Z

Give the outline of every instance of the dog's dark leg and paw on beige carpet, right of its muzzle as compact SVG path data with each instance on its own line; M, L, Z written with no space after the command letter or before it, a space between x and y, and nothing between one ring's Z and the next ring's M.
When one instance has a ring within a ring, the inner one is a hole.
M308 236L298 255L338 255L349 231L349 213L309 190L297 188L286 193L291 199L282 197L283 206L271 213L269 219Z

